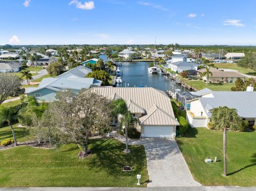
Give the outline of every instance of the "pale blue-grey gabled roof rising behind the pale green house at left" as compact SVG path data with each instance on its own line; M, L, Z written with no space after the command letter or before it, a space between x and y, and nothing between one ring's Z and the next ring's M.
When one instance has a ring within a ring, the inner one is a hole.
M92 72L91 69L79 65L76 68L68 70L56 78L85 78L88 73Z

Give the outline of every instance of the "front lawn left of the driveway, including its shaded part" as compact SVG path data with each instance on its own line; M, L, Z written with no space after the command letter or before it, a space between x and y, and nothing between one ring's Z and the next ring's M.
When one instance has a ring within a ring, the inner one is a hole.
M142 145L130 146L115 139L90 139L92 155L78 159L75 144L47 150L20 146L0 151L1 187L136 187L137 174L141 186L148 182L147 161ZM122 165L132 171L123 172Z

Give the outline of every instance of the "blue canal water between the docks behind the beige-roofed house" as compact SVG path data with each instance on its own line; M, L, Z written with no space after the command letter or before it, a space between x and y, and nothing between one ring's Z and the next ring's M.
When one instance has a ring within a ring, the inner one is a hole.
M106 54L99 56L103 61L107 61ZM117 76L121 76L123 83L119 84L118 87L138 87L147 86L167 92L170 90L171 84L174 84L169 78L166 78L163 74L148 73L150 67L149 62L121 62L121 72ZM180 86L175 85L175 89L180 89Z

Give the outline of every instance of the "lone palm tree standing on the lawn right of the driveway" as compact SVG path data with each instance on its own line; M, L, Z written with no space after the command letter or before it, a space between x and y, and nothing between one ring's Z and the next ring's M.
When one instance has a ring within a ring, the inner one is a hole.
M243 120L238 116L236 109L227 106L213 109L210 120L210 129L223 131L223 175L227 176L227 130L237 131L243 126Z

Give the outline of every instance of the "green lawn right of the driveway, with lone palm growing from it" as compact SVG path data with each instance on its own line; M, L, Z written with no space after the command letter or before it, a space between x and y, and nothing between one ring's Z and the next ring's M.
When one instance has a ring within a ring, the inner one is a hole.
M227 172L223 173L222 131L189 128L175 138L193 177L206 186L256 186L256 131L227 133ZM220 160L205 163L207 157Z

